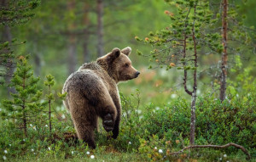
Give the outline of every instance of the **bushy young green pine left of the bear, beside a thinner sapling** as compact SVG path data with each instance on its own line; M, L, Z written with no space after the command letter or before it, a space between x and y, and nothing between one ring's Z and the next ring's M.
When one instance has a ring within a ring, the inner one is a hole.
M42 90L38 89L39 77L33 76L32 66L27 63L27 57L20 56L11 87L16 93L11 93L13 100L3 100L5 110L2 116L6 119L15 119L16 126L24 131L27 137L27 125L44 109L41 102Z

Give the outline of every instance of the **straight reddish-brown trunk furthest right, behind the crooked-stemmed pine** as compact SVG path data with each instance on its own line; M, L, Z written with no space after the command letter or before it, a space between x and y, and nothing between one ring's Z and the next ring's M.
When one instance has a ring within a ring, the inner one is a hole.
M223 0L223 14L222 14L222 44L224 47L221 59L221 83L220 83L220 94L219 99L224 101L226 97L226 77L227 77L227 62L228 62L228 53L227 53L227 13L228 13L228 0Z

